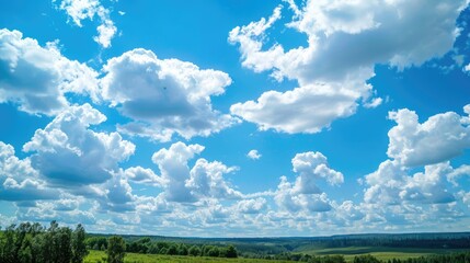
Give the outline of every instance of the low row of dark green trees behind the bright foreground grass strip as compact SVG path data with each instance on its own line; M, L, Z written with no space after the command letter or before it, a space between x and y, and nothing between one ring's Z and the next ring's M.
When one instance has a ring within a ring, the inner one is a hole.
M90 237L87 245L93 250L107 250L105 237ZM186 244L179 242L152 241L150 238L126 241L126 252L140 254L167 254L191 256L238 258L233 245Z

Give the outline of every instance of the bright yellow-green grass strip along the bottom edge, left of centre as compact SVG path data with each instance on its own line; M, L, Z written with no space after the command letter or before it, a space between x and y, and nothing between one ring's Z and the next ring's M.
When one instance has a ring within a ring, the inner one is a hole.
M106 262L106 254L103 251L90 251L90 254L84 260L84 263ZM293 263L293 261L267 261L267 260L251 260L251 259L222 259L222 258L203 258L203 256L183 256L183 255L158 255L158 254L136 254L127 253L124 258L126 263Z

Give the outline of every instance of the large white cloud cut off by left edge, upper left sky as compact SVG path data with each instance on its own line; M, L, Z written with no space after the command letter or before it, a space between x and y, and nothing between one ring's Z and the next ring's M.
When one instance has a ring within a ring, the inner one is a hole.
M64 57L56 43L42 47L19 31L0 30L0 103L31 114L57 114L68 106L68 92L96 99L95 71Z

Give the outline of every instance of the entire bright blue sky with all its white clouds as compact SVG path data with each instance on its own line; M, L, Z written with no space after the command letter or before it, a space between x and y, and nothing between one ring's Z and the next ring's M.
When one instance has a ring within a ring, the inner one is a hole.
M468 1L0 1L0 219L468 231Z

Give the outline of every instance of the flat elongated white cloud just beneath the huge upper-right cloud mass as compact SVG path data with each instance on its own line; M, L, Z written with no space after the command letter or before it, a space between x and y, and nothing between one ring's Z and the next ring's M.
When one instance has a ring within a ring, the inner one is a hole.
M284 93L267 91L256 102L233 104L230 112L256 123L262 130L313 134L337 117L353 115L359 96L341 85L313 84Z

